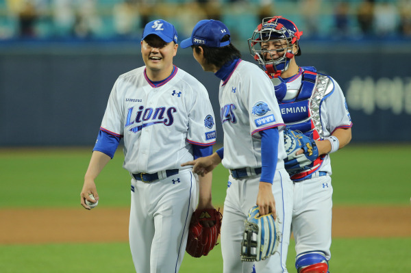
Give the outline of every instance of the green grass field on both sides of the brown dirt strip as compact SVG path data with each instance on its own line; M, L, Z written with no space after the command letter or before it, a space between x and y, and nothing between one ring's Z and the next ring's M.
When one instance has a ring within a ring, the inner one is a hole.
M90 148L0 149L0 209L78 208ZM350 145L332 154L334 205L410 206L411 145ZM129 174L121 151L97 179L99 207L129 206ZM227 170L214 172L213 203L222 206ZM1 220L0 220L1 221ZM0 222L1 223L1 222ZM27 223L29 225L29 223ZM411 229L411 226L410 226ZM0 224L1 231L1 224ZM411 237L333 239L332 272L411 272ZM134 272L127 242L0 245L0 272ZM293 242L288 270L294 269ZM208 257L185 256L180 272L222 272L219 246Z

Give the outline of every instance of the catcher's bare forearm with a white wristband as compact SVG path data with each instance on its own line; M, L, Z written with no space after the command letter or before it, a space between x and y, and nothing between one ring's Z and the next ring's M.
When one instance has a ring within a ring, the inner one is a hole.
M338 128L331 136L324 140L316 140L316 146L319 148L319 155L325 155L327 153L334 153L340 148L343 148L351 141L351 127L350 128Z

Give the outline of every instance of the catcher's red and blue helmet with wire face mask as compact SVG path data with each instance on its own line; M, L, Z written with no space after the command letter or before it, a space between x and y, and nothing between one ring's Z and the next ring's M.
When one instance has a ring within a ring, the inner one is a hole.
M282 18L282 16L266 17L254 30L253 36L248 39L249 50L254 59L267 73L279 76L282 71L288 69L288 64L290 64L290 60L294 55L301 55L298 44L301 35L303 35L303 31L299 31L292 21ZM269 40L286 40L286 46L273 50L264 49L262 42L268 42ZM294 44L297 44L297 53L292 51ZM286 52L282 57L274 60L273 51Z

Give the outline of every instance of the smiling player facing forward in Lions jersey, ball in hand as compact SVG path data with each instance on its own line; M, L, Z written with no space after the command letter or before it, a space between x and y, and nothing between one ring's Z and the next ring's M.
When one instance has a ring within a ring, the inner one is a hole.
M141 54L145 66L121 75L112 88L81 204L98 200L95 179L124 139L131 180L129 244L136 272L178 272L197 206L213 208L211 175L199 178L183 162L212 154L216 129L208 92L173 65L177 31L163 20L147 23ZM197 193L199 192L199 193Z

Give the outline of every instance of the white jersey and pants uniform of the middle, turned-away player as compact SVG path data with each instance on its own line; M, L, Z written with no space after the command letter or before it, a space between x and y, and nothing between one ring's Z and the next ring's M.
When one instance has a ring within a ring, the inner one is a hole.
M279 129L278 159L272 192L275 209L281 224L282 239L278 253L256 263L260 273L286 272L286 257L290 241L292 214L292 181L284 169L284 123L275 99L269 77L255 64L240 60L232 75L221 82L219 101L224 129L223 165L228 169L260 168L261 136L264 129ZM244 222L248 211L256 205L260 175L234 179L229 176L224 202L224 220L221 226L221 252L223 272L252 271L253 263L240 259Z

